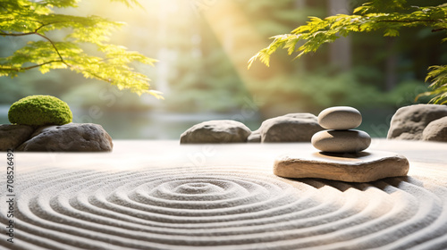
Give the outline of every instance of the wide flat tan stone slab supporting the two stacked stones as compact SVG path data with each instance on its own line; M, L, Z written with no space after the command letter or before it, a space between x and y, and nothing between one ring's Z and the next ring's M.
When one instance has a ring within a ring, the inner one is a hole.
M409 161L405 156L383 151L354 154L299 152L280 156L274 174L285 178L320 178L346 182L369 182L405 176Z

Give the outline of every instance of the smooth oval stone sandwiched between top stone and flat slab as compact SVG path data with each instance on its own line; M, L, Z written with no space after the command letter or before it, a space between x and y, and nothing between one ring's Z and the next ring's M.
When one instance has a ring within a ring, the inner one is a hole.
M312 137L312 146L323 152L360 152L371 144L371 137L360 130L324 130Z

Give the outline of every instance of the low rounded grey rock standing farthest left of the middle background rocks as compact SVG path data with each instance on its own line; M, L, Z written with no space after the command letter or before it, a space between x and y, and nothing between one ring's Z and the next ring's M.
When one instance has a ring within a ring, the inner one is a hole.
M247 142L250 134L251 130L239 121L205 121L183 132L180 143L241 143Z

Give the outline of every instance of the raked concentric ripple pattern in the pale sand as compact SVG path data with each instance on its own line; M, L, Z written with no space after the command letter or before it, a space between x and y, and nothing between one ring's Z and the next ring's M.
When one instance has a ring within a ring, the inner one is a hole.
M23 172L17 182L15 243L3 239L0 248L447 246L447 188L412 177L350 184L281 179L231 166L115 172L48 168Z

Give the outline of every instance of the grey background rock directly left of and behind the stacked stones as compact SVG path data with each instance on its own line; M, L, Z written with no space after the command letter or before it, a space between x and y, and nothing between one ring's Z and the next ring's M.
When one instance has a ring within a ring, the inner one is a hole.
M268 119L259 128L261 142L310 142L310 138L321 130L316 116L308 112Z

